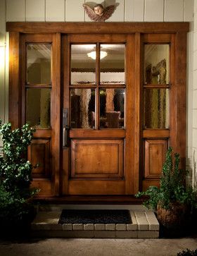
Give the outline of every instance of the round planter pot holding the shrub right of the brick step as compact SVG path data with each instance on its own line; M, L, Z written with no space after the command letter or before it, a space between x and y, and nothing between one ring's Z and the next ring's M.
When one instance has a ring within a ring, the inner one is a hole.
M188 205L175 202L170 209L158 205L157 217L163 236L184 236L189 231L191 210Z

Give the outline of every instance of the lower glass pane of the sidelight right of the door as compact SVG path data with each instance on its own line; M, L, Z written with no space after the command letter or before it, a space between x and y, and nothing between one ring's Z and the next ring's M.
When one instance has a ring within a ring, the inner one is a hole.
M169 128L169 90L144 90L144 128Z

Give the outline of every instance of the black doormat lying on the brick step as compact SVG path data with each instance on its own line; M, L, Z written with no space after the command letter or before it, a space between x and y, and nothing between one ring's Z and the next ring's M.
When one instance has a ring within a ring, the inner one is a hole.
M132 224L129 210L63 209L58 224Z

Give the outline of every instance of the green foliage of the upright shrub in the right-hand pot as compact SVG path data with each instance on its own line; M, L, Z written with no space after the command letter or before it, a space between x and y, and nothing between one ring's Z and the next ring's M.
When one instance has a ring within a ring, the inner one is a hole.
M160 188L150 186L145 192L139 192L136 197L148 196L144 206L149 209L157 209L158 203L165 209L170 209L174 202L197 207L197 192L192 187L185 186L185 178L188 173L179 169L179 154L172 157L172 147L167 150L166 159L163 164Z

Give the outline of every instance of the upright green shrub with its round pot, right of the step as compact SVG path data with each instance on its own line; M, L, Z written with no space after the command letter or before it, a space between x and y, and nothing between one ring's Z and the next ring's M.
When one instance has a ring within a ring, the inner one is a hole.
M150 186L136 197L146 196L143 205L153 209L164 234L182 234L189 225L191 212L197 208L197 192L186 186L188 171L179 169L179 154L172 157L172 147L167 150L159 188Z

